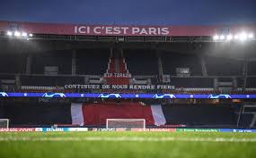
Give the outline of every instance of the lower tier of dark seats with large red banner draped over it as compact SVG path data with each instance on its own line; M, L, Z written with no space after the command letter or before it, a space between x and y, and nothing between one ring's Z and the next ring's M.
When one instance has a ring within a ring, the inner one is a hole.
M0 106L1 117L10 118L13 127L24 124L49 126L72 124L77 104L68 103L5 103ZM157 109L162 109L160 112ZM71 112L73 110L73 112ZM159 113L160 112L160 113ZM161 114L162 113L162 114ZM146 119L146 126L185 125L186 127L235 127L237 115L232 104L162 104L144 105L130 102L83 104L84 126L104 127L106 119ZM161 118L155 118L155 116ZM241 126L248 127L244 119Z

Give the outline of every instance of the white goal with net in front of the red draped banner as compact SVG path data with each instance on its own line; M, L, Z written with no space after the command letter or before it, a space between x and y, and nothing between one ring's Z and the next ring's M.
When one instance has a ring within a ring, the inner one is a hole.
M126 129L145 129L145 119L107 119L107 129L126 128Z

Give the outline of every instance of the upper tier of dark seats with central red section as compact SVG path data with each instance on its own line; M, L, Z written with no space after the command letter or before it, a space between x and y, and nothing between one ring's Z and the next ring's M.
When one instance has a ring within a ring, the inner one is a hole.
M7 92L40 92L53 87L56 91L93 92L93 89L70 87L98 84L169 85L173 88L159 92L232 94L254 92L256 87L254 62L223 56L113 48L38 54L14 52L0 56L0 88ZM6 67L9 63L12 66ZM120 90L126 92L125 88L116 89L116 92Z

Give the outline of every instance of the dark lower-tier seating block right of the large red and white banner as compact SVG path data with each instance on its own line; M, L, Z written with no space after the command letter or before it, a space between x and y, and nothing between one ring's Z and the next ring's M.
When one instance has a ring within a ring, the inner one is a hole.
M170 117L167 124L234 127L236 116L231 104L172 104L163 106ZM168 120L168 119L167 119Z

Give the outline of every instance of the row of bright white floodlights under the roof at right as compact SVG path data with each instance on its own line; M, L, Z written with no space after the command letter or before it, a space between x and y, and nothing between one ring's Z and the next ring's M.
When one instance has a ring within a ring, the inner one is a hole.
M253 33L246 33L246 32L241 32L237 33L235 35L228 34L228 35L215 35L213 37L214 41L232 41L232 40L238 40L238 41L247 41L247 40L253 40L255 39Z

